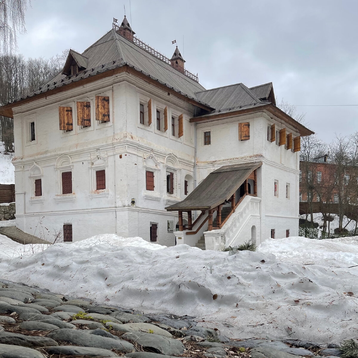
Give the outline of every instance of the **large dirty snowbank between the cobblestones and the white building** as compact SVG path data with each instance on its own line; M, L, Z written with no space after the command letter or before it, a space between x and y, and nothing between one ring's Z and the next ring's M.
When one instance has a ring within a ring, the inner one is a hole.
M333 343L357 336L358 237L268 239L257 252L231 256L103 235L41 252L25 248L18 257L11 246L18 244L0 241L1 277L11 281L193 315L230 337Z

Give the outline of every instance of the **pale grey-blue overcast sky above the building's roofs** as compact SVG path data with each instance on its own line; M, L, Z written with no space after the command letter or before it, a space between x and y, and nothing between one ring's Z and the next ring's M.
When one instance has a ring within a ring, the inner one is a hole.
M272 82L325 142L358 130L357 0L32 0L18 52L83 52L123 5L136 36L167 57L176 39L205 88Z

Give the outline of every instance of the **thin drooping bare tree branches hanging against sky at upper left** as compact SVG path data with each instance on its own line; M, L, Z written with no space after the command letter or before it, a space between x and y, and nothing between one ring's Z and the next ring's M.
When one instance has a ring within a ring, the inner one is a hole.
M0 44L5 53L16 47L16 34L26 31L27 4L27 0L0 0Z

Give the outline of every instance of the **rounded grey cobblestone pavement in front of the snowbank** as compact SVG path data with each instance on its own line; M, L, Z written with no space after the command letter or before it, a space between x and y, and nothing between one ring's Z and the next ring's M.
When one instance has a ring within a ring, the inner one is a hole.
M337 345L230 339L194 317L96 305L0 279L0 358L340 357Z

